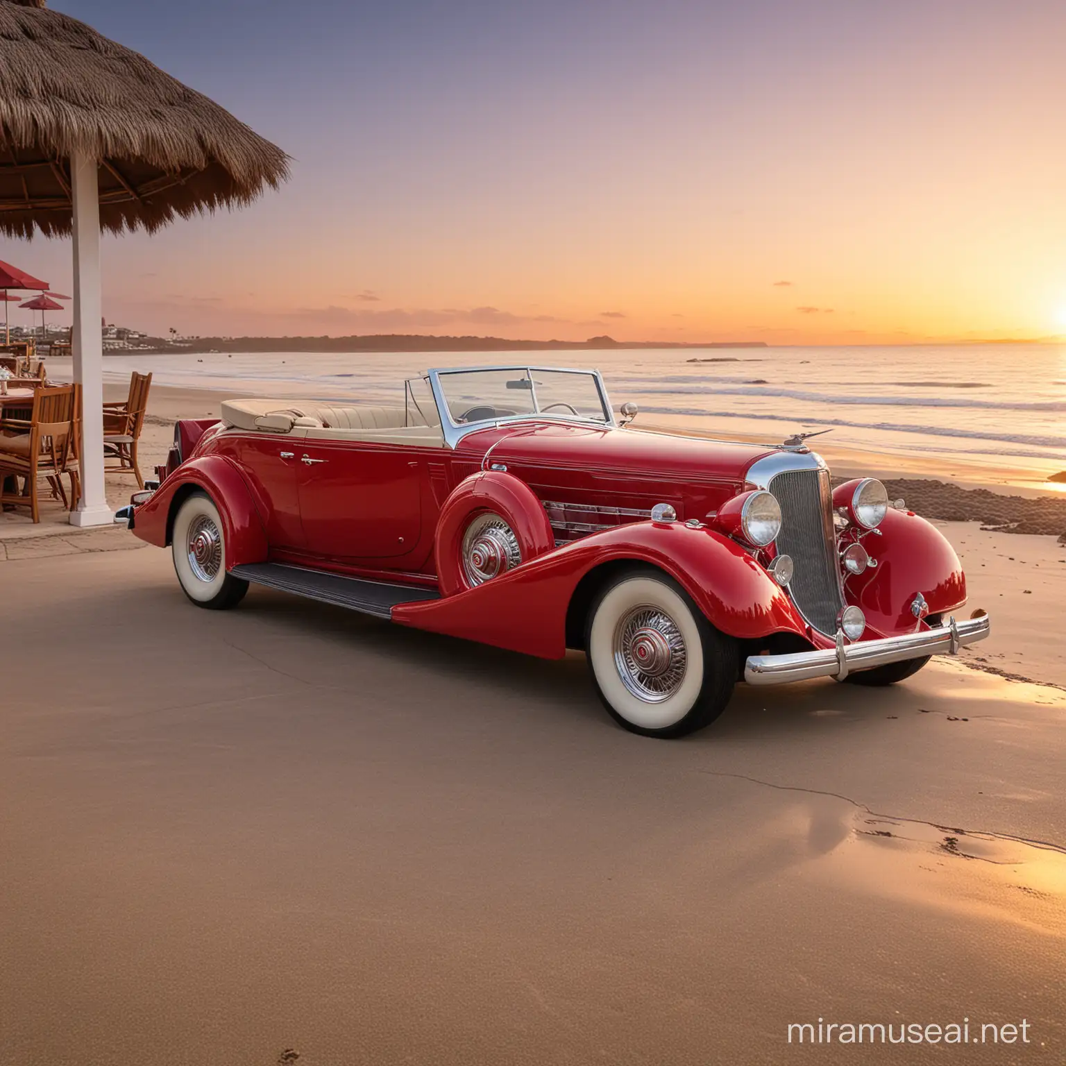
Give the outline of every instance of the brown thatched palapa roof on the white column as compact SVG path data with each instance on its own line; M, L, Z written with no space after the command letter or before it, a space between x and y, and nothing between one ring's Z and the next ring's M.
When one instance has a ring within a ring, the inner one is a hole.
M0 0L0 231L70 232L70 155L100 160L100 225L238 207L288 157L228 111L44 0Z

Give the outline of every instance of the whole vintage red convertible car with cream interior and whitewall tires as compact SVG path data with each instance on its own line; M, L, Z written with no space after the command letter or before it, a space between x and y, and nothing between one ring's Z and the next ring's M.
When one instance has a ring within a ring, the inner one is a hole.
M889 684L988 635L933 526L802 437L643 432L600 375L433 370L394 407L240 400L181 421L115 520L185 595L249 582L516 651L583 649L634 732L713 721L733 684Z

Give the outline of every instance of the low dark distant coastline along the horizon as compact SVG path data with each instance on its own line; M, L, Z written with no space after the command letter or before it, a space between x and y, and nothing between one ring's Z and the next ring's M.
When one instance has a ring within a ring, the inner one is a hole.
M613 337L588 340L505 340L502 337L433 337L416 334L377 334L349 337L195 337L178 342L148 337L138 345L145 352L569 352L625 349L766 348L765 341L618 341ZM130 351L132 354L132 350ZM113 351L109 354L123 354Z

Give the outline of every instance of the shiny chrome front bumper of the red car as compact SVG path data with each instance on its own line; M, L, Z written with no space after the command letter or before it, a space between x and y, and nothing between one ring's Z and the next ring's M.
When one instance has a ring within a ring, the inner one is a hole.
M806 681L812 677L835 677L842 681L849 674L904 659L925 656L957 655L966 644L983 641L991 631L987 614L965 621L949 618L948 623L922 633L886 636L877 641L845 644L844 634L837 633L837 646L814 651L798 651L788 656L750 656L744 665L748 684L784 684Z

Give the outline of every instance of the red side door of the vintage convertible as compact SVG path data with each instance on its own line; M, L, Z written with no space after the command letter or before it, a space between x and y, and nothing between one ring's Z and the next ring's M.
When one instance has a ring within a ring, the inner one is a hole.
M401 445L305 438L295 449L306 549L329 559L404 555L419 540L417 452Z

